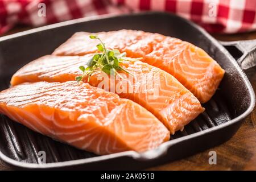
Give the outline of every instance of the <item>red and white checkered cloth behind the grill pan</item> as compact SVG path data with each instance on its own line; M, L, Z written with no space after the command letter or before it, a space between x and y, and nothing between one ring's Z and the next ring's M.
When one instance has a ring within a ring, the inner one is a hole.
M38 15L42 5L46 16ZM85 16L150 10L170 11L209 32L256 30L256 0L0 0L0 34L17 23L42 26Z

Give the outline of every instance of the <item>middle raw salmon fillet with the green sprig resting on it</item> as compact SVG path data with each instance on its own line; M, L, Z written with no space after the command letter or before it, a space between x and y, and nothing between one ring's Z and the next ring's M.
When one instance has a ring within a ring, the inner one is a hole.
M16 72L11 79L11 85L22 82L75 80L76 76L82 75L79 66L86 65L91 57L92 55L40 57ZM122 72L123 78L118 79L98 71L90 77L89 84L137 102L162 121L171 134L183 129L204 111L197 98L167 72L138 60L123 61L121 66L134 75L133 80L129 80L131 74ZM100 86L102 80L107 84ZM114 86L110 84L113 80ZM88 79L84 78L83 81Z

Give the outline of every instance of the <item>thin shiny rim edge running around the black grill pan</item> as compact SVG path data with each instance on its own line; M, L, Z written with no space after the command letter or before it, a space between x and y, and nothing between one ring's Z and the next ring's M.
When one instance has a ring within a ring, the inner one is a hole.
M207 129L207 130L199 131L197 133L190 134L190 135L187 135L185 137L170 140L168 142L165 142L165 143L161 144L158 148L155 148L154 150L146 151L146 152L143 152L141 154L139 154L138 152L135 152L135 151L125 151L125 152L119 152L119 153L116 153L116 154L95 156L93 158L69 160L69 161L65 161L65 162L56 162L56 163L47 163L47 164L35 164L35 163L19 162L17 160L14 160L14 159L11 159L11 158L7 157L6 155L4 155L0 151L0 159L2 159L3 161L5 161L5 162L7 162L11 165L14 165L16 167L31 168L31 169L46 169L46 168L77 166L77 165L81 165L81 164L87 164L87 163L92 163L92 162L102 162L104 160L121 158L123 156L133 158L134 160L141 160L141 161L143 161L143 160L153 160L153 159L157 159L160 156L166 154L169 147L171 147L172 145L174 145L176 143L181 142L181 140L188 140L188 139L196 138L196 137L199 137L201 135L205 135L207 133L212 133L213 131L222 129L224 127L228 127L229 125L232 125L233 123L241 121L241 119L244 119L245 117L247 117L247 115L249 115L251 113L251 111L253 111L254 106L255 106L255 93L254 93L253 87L250 84L250 81L248 80L245 73L242 71L242 68L238 65L237 61L234 60L234 58L230 55L230 53L216 39L214 39L211 35L209 35L208 32L205 31L203 28L201 28L200 26L197 26L197 24L195 24L195 23L193 23L189 20L186 20L184 18L181 18L180 16L177 16L177 15L174 15L174 14L171 14L171 13L165 13L165 12L161 12L161 11L149 11L149 12L141 12L141 13L133 13L133 14L122 14L122 15L110 14L110 15L90 16L90 17L85 17L85 18L68 20L66 22L50 24L50 25L47 25L47 26L39 27L39 28L33 28L31 30L18 32L18 33L13 34L13 35L3 36L2 38L0 38L0 43L5 41L5 40L18 38L19 36L34 34L35 32L40 32L40 31L44 31L44 30L51 30L51 29L57 28L57 27L70 26L70 25L76 24L76 23L89 22L91 20L97 20L97 19L108 19L108 18L117 18L117 17L121 17L121 16L134 16L134 15L135 16L138 16L138 15L169 15L169 16L176 16L176 18L179 18L180 20L183 20L183 22L184 21L187 22L192 27L199 30L201 32L201 34L205 35L214 44L214 46L217 46L218 48L220 48L221 51L224 52L225 55L230 59L230 61L232 61L232 64L236 67L237 71L241 75L241 78L245 82L246 89L248 90L249 95L250 95L250 104L247 107L246 111L244 111L238 117L230 120L229 122L223 123L222 125L218 125L218 126L212 127L210 129Z

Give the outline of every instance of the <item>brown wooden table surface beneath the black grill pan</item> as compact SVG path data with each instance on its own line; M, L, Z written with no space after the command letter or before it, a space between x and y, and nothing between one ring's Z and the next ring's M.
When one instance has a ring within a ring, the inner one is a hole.
M27 30L30 27L17 27L8 34ZM249 40L256 39L256 32L235 35L213 35L218 40ZM256 61L256 60L255 60ZM256 70L256 69L255 69ZM250 77L250 82L256 92L256 71ZM217 165L208 163L208 152L217 153ZM0 160L0 170L12 170L13 167ZM245 123L236 135L228 142L210 150L188 158L150 168L152 170L256 170L256 109L246 118Z

